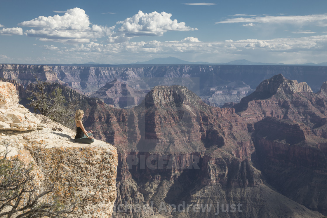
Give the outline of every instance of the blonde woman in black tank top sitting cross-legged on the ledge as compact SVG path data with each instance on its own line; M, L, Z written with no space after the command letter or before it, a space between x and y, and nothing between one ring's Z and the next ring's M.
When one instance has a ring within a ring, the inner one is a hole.
M84 111L83 110L77 110L75 113L75 122L76 122L76 136L75 136L75 142L79 143L93 143L94 137L92 135L93 131L86 131L83 126L83 119L84 117Z

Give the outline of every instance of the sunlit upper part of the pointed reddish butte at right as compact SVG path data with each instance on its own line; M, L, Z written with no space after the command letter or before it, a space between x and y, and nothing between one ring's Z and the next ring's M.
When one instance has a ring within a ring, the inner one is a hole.
M316 106L319 107L318 104L323 101L305 82L288 80L279 74L264 80L255 92L242 98L241 102L233 108L249 123L258 122L264 116L273 116L307 124L311 121L304 120L305 114L310 114L312 116L310 119L321 119L324 116L323 107L316 109ZM314 111L314 114L310 111Z

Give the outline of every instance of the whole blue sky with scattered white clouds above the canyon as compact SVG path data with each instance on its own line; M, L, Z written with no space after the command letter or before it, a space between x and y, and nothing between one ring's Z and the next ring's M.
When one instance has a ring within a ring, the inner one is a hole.
M327 0L0 0L0 63L327 61Z

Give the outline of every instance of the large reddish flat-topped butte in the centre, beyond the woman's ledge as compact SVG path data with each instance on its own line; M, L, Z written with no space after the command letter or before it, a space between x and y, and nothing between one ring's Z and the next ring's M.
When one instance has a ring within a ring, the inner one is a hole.
M222 217L322 216L265 185L251 162L254 125L234 109L204 104L186 87L157 86L132 109L98 104L84 111L85 125L118 149L115 217L213 217L217 202L243 205L236 213L219 208ZM163 210L183 202L215 209Z

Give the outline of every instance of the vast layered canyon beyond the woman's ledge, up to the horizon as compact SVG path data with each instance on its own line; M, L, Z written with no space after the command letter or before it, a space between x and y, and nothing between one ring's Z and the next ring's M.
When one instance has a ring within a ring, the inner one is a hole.
M323 82L327 68L176 65L116 67L108 75L100 67L94 73L84 68L82 75L81 68L54 66L44 76L59 82L49 84L49 90L61 87L67 99L81 101L85 126L94 130L97 140L117 148L113 217L214 217L217 202L242 205L241 212L220 210L220 217L327 215L327 82ZM145 69L146 79L140 76ZM11 79L17 90L21 85L32 88L19 74L10 75L5 79ZM149 92L130 109L112 108L104 99L81 94L104 87L100 93L109 90L120 99L118 83ZM216 93L215 84L218 89L230 84L255 91L243 90L239 103L218 108L210 106L215 105L208 100L213 95L198 96L208 89ZM21 92L23 102L28 93ZM173 205L183 204L191 209L174 212ZM197 212L195 205L213 208Z

